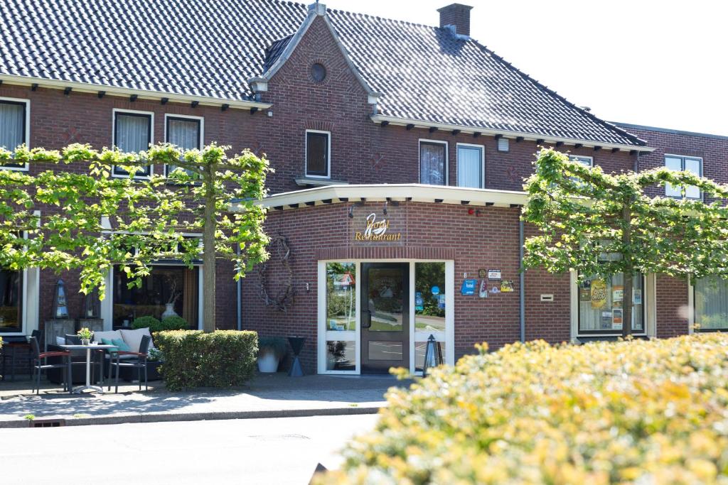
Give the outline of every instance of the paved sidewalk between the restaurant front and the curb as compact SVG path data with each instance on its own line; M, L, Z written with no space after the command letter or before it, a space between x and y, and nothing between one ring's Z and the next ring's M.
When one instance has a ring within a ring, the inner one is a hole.
M154 382L156 386L150 386L149 391L140 392L137 385L124 385L119 386L119 394L73 396L58 392L58 388L41 390L35 396L30 394L28 381L7 384L0 383L0 428L28 426L26 414L33 414L35 420L60 418L67 426L371 414L387 404L384 393L388 388L408 382L389 376L288 377L278 373L258 374L250 385L235 389L170 393L161 382Z

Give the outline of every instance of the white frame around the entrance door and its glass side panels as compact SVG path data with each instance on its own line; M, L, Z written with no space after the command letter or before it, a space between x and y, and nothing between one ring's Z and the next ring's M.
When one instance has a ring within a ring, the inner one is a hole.
M355 329L346 332L338 330L330 331L326 326L326 265L329 262L353 263L356 265L356 321ZM422 371L415 372L415 344L416 342L427 341L430 334L434 334L435 338L440 342L445 342L445 363L449 365L455 364L455 262L454 260L357 260L357 259L341 259L341 260L319 260L317 262L317 371L318 374L344 374L358 375L361 374L361 268L365 262L405 262L409 265L409 298L410 298L410 315L409 315L409 368L412 374L422 375ZM415 264L418 262L444 262L445 263L445 332L416 332L415 331ZM356 345L356 370L353 371L337 371L326 370L326 342L328 340L341 340L351 342Z

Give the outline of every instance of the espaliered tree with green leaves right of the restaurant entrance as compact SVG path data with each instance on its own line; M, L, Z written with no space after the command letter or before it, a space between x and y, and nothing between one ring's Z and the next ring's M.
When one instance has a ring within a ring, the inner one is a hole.
M652 196L665 185L700 188L703 198ZM633 275L700 278L728 273L728 186L665 167L606 174L543 149L524 185L524 268L575 270L578 280L623 273L622 335L632 332Z

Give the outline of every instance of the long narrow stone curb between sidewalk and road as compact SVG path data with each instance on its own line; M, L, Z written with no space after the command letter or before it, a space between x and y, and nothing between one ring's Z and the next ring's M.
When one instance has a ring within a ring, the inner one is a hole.
M341 407L328 409L273 409L261 411L216 411L170 414L165 412L149 414L111 414L90 417L43 416L36 421L62 420L65 426L119 425L136 422L172 422L206 420L253 420L276 417L345 416L348 414L376 414L381 406ZM0 421L2 428L30 428L30 420Z

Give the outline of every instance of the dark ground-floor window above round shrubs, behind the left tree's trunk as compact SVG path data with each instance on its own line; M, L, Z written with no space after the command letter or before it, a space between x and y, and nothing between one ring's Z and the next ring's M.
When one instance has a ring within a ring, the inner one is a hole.
M191 329L197 329L197 268L155 265L142 279L141 287L128 286L129 278L120 266L114 268L114 326L128 326L140 316L161 320L171 308L184 318Z

